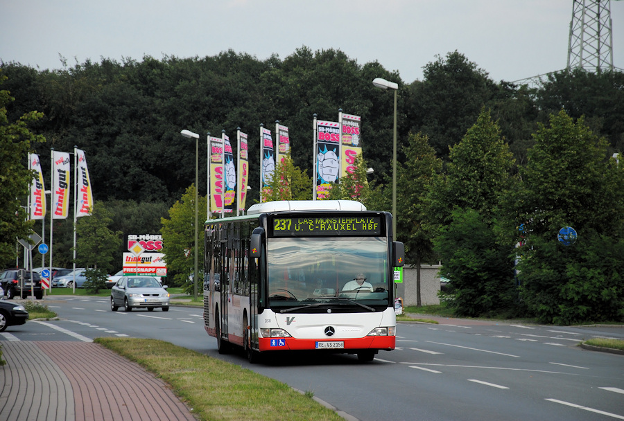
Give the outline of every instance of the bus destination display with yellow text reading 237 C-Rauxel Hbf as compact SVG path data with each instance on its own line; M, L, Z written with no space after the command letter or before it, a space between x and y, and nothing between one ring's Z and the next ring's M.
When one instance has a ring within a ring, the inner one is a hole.
M381 235L381 217L276 217L273 235Z

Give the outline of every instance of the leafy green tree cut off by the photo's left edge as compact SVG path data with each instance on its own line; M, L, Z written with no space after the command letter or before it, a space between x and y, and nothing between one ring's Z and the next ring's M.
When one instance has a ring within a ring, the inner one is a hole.
M0 84L6 80L0 69ZM17 238L28 238L33 223L27 220L21 201L28 195L28 188L35 177L28 170L28 152L31 145L44 142L42 135L35 135L28 124L42 118L43 114L31 111L9 123L7 107L15 98L9 91L0 91L0 263L3 267L15 264Z

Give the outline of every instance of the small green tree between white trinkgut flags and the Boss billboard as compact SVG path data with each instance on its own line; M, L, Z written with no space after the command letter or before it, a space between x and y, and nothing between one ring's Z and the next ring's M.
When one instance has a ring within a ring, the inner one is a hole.
M76 221L76 264L87 268L85 287L97 294L114 268L112 251L119 249L121 231L110 230L112 214L103 204L96 202L91 212Z

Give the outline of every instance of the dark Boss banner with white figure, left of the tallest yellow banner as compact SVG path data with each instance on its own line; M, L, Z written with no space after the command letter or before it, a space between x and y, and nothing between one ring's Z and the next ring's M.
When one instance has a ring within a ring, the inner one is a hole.
M325 199L340 174L340 123L317 120L315 199Z

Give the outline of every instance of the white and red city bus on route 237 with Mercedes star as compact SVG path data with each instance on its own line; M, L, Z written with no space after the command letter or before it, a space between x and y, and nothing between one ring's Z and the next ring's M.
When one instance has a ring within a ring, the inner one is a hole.
M297 350L372 361L395 348L405 253L392 235L390 213L347 200L271 201L208 220L206 332L218 352L239 346L251 363Z

